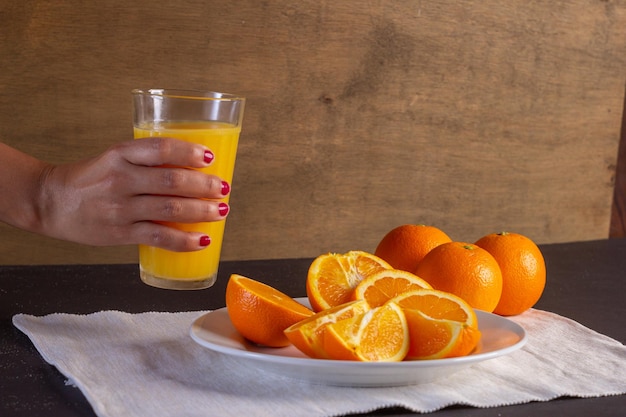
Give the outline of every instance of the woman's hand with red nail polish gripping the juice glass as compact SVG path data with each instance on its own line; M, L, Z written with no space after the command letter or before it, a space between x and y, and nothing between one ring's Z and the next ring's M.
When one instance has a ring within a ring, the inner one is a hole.
M175 251L202 249L209 237L162 222L211 222L226 217L228 205L219 200L228 195L230 185L216 176L183 168L206 167L214 157L201 145L148 138L120 143L77 163L39 162L34 217L25 228L88 245L141 243ZM0 184L2 188L7 185Z

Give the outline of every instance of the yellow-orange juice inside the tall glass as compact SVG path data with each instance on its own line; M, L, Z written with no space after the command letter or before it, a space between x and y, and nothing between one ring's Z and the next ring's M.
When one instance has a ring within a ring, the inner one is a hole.
M213 163L199 169L207 174L217 175L228 183L232 182L235 169L235 156L241 126L221 122L159 122L134 128L135 139L164 136L200 143L215 154ZM229 196L220 201L228 202ZM167 282L175 280L187 288L212 285L217 278L217 267L222 249L222 239L226 221L182 224L171 226L181 230L204 233L211 238L211 244L198 252L172 252L152 246L139 245L139 267L142 279L167 287ZM208 281L208 282L207 282ZM188 285L187 285L188 284Z

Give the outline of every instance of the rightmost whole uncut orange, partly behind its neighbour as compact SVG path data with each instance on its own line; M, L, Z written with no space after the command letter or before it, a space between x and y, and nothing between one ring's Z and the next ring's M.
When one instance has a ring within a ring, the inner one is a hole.
M531 239L517 233L492 233L476 242L502 271L502 296L493 310L503 316L521 314L535 305L546 286L546 264Z

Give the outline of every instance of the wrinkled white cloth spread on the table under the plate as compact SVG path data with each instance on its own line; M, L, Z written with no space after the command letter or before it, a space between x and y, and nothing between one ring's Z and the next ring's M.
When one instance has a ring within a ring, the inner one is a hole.
M191 339L190 325L204 313L20 314L13 323L102 417L431 412L626 393L623 344L541 310L512 318L528 334L521 350L445 380L394 388L315 385L242 366Z

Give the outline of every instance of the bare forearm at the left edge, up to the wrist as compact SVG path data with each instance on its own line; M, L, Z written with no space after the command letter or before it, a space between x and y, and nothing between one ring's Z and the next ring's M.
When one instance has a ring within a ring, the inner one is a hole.
M0 221L41 232L41 184L49 167L0 143Z

